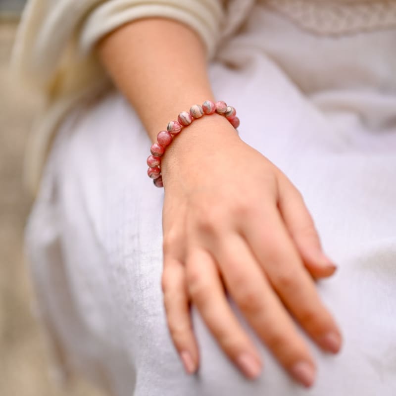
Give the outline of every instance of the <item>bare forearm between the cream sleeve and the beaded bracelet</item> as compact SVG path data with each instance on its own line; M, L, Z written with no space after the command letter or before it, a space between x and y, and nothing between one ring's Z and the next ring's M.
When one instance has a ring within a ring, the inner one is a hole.
M134 21L107 36L99 55L151 141L180 111L213 99L205 49L195 32L179 22Z

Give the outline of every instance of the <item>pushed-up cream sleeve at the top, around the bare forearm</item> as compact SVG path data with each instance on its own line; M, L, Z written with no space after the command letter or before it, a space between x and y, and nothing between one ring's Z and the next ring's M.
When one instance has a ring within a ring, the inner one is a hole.
M13 66L22 77L43 88L58 77L59 69L67 69L67 63L83 64L107 33L127 22L153 16L190 26L210 58L224 23L224 1L30 0L17 34Z

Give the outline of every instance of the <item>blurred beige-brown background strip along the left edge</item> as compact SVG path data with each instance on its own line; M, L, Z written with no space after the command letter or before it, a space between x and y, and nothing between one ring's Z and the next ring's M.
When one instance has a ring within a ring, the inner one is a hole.
M23 257L31 200L22 186L24 149L38 98L9 78L8 63L23 0L0 0L0 396L99 396L81 379L65 389L33 315L34 294Z

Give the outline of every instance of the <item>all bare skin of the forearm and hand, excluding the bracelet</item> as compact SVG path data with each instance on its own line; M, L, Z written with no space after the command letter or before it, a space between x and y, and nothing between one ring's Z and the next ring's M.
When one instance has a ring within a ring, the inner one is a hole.
M134 21L102 40L98 53L152 142L180 111L214 100L205 49L181 23ZM194 373L199 364L190 317L195 304L230 360L247 378L260 374L261 357L227 293L285 370L311 386L315 362L293 318L325 351L337 353L342 336L314 281L336 267L323 253L297 189L217 114L183 130L167 148L161 170L162 290L186 371Z

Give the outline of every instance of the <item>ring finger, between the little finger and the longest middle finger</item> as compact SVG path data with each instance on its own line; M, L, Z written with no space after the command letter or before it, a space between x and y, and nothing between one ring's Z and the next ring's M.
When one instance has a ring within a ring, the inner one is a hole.
M261 372L260 357L225 297L211 255L195 248L186 261L187 283L193 303L216 341L247 378Z

